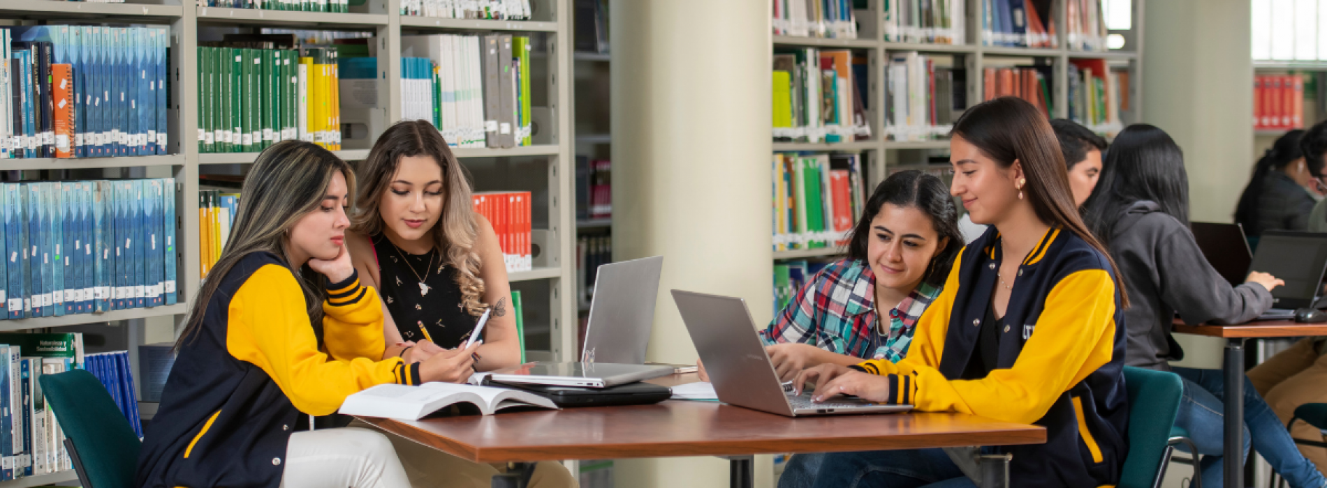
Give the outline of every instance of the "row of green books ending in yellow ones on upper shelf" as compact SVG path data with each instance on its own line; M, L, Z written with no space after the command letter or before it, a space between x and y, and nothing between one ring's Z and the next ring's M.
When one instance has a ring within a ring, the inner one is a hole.
M336 50L198 48L198 147L257 152L288 139L338 150Z

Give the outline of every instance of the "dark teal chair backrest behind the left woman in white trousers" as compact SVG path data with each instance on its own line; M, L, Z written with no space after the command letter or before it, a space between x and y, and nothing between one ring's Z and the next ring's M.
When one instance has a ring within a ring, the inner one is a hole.
M130 488L142 442L106 387L84 370L42 375L41 391L73 442L89 488Z

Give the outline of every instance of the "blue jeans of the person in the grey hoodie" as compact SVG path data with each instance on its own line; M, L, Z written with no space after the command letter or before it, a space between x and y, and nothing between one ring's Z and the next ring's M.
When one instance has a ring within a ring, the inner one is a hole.
M1222 447L1225 446L1222 399L1226 391L1223 373L1189 367L1174 367L1173 370L1184 379L1184 398L1180 400L1180 412L1176 415L1174 424L1189 431L1189 438L1198 448L1198 454L1202 455L1202 485L1221 488L1225 483L1222 477L1225 464L1222 460ZM1267 402L1262 399L1262 395L1258 395L1258 390L1254 390L1249 378L1243 381L1245 456L1249 455L1251 443L1253 448L1291 487L1327 487L1327 477L1323 477L1318 468L1299 454L1286 426L1267 407Z

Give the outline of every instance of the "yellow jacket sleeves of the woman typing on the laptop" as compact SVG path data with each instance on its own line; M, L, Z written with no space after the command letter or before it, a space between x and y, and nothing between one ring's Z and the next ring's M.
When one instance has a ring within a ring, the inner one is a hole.
M1068 274L1051 289L1036 333L1027 339L1014 367L997 369L983 379L950 381L937 370L949 329L951 293L958 288L950 285L946 282L941 294L947 301L937 300L922 314L906 358L897 365L876 359L857 365L867 373L890 378L890 403L1032 423L1046 415L1060 394L1111 361L1115 281L1103 269L1085 269Z

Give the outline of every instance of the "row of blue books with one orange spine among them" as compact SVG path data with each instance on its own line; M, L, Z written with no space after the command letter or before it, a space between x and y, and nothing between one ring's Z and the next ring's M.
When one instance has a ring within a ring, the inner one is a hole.
M169 45L166 27L0 29L0 159L167 154Z

